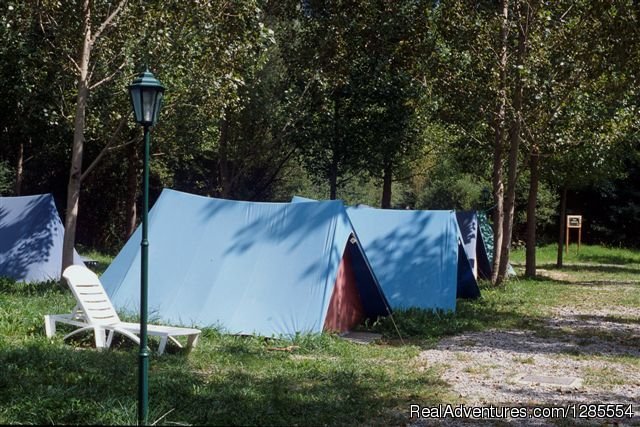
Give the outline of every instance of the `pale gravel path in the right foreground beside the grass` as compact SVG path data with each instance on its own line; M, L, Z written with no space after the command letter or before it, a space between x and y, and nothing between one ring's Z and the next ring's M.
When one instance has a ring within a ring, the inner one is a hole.
M465 406L633 404L635 415L631 420L579 421L587 425L640 425L640 309L578 311L562 307L537 332L489 330L443 339L436 348L420 353L419 369L440 369L442 379ZM531 375L578 381L571 386L521 381ZM418 420L415 425L459 425L461 421L429 419ZM573 425L574 421L565 419L562 423ZM557 422L501 421L509 425ZM474 420L474 424L497 423Z

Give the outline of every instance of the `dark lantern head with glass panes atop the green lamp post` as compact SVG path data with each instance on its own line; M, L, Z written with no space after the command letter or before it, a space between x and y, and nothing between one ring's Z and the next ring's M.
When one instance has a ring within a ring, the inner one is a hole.
M153 126L158 121L164 87L149 71L140 73L129 86L136 122Z

